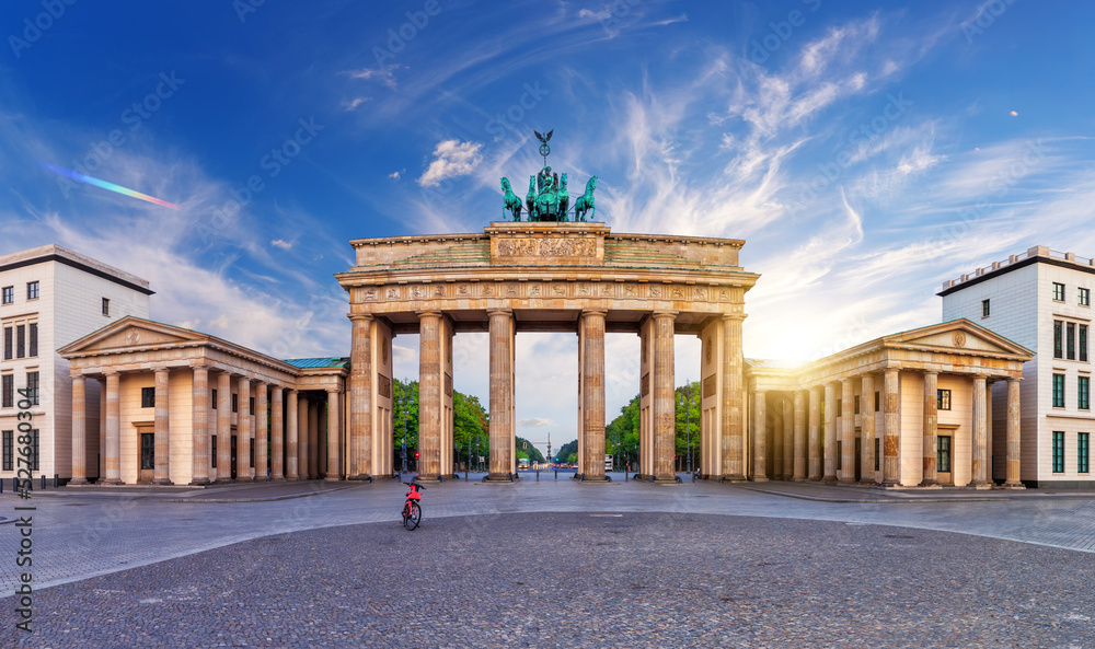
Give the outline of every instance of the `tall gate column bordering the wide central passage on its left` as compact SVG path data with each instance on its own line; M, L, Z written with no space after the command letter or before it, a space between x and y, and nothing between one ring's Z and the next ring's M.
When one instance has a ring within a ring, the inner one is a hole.
M488 480L508 480L514 471L514 314L509 310L487 311L491 329L491 413L488 443Z

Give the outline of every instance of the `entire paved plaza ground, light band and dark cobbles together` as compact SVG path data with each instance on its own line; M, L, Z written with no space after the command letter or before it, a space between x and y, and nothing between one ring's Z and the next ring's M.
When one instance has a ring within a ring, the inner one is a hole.
M1091 494L531 477L39 491L0 644L1095 646Z

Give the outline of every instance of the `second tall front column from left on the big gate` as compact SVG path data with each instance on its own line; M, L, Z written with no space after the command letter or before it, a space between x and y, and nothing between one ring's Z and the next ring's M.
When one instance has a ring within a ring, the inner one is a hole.
M441 471L441 313L418 314L418 478Z

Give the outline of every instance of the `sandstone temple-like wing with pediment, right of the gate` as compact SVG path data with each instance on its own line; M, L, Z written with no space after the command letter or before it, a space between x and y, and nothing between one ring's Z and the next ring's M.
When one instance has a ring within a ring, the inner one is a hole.
M1031 358L955 320L798 367L747 359L749 476L977 488L995 477L1022 487L1019 383ZM1006 398L996 406L993 385Z

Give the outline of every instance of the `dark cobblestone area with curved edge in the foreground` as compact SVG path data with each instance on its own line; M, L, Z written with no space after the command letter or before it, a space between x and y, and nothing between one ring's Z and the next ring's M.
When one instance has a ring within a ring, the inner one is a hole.
M0 638L73 649L1064 648L1095 638L1084 553L828 521L430 511L415 532L388 521L277 534L50 588L35 600L34 636L9 627Z

